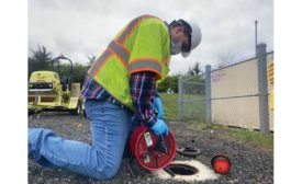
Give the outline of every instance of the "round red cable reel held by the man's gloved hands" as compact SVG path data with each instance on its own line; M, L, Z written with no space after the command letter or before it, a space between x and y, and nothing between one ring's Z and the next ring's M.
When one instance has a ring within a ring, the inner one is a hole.
M176 140L171 131L168 136L156 136L141 125L131 136L131 151L146 170L157 171L169 165L176 154Z

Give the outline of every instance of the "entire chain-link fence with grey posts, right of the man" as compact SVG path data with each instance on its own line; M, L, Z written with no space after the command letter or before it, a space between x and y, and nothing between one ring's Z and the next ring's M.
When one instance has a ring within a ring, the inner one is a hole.
M179 119L273 131L273 53L265 44L256 53L224 68L206 66L199 77L179 78Z

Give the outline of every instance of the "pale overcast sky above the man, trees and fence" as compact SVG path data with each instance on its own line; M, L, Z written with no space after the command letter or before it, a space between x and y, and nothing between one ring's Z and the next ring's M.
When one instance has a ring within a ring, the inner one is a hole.
M215 66L220 55L233 62L255 56L258 43L273 50L272 0L29 0L29 55L43 45L76 62L99 56L116 32L132 19L153 14L167 22L190 19L202 31L202 42L188 58L174 56L170 73L186 72L199 61Z

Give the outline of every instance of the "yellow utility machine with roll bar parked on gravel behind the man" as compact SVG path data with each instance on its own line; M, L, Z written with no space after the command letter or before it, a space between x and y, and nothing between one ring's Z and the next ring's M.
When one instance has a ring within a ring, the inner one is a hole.
M70 76L59 77L55 71L34 71L29 81L29 114L42 111L68 111L71 115L79 115L82 100L80 99L80 83L72 83L72 61L60 55L52 60L68 60Z

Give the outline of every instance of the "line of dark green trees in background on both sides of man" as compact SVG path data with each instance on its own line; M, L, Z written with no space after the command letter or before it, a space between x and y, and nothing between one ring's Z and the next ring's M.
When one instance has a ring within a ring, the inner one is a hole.
M54 54L52 51L48 51L45 46L37 46L37 48L31 49L31 56L27 58L27 77L30 79L30 76L33 71L40 71L40 70L51 70L56 71L59 77L63 76L70 76L70 64L69 62L58 62L55 61L54 65L52 64L52 60L55 58ZM96 56L87 56L87 62L86 64L74 64L74 74L72 74L72 81L79 82L82 84L86 73L88 69L93 64ZM197 61L193 67L189 67L189 70L184 74L172 74L168 76L158 87L158 92L167 92L167 91L174 91L175 93L178 93L178 78L180 76L182 77L195 77L201 76L203 72L201 70L201 67L199 62ZM200 79L195 79L195 81ZM188 89L190 91L190 89Z

